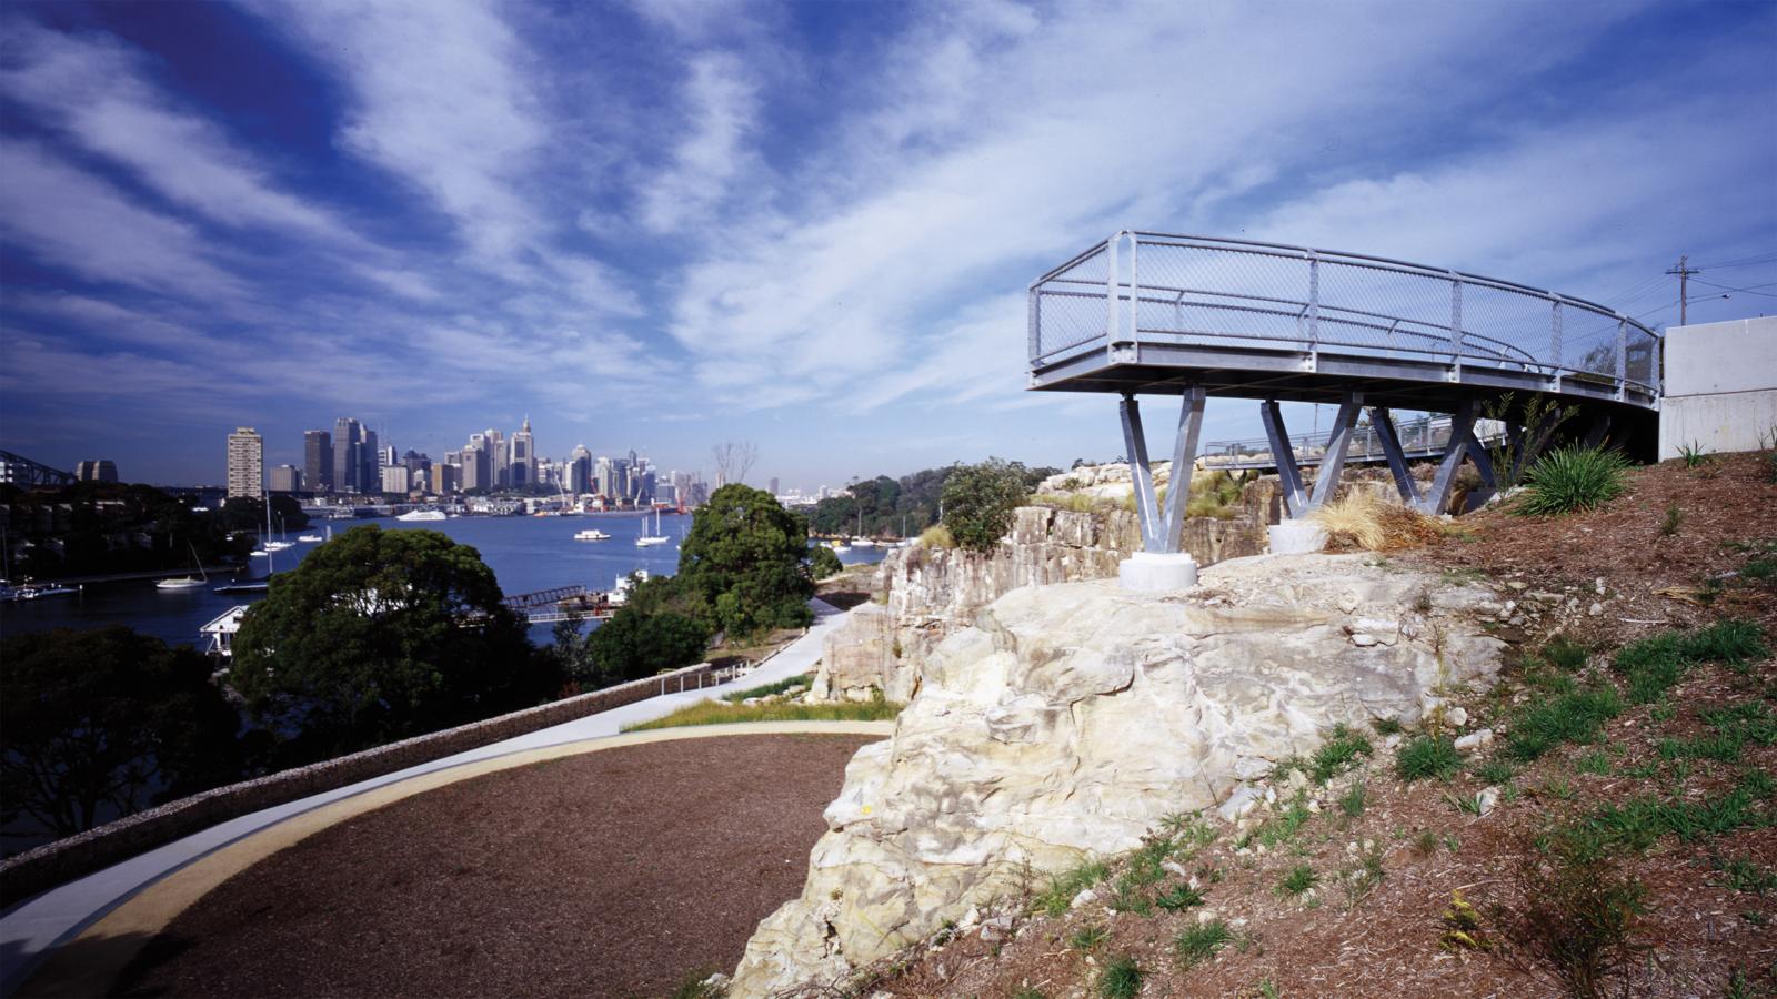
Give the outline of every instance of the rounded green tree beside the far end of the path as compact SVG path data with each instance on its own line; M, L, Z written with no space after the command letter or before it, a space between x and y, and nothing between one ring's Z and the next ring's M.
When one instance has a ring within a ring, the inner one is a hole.
M809 524L762 489L718 489L679 547L679 581L729 636L814 620Z

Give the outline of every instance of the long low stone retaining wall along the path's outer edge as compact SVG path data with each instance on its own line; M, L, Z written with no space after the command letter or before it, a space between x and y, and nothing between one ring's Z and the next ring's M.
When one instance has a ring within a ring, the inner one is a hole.
M114 823L89 828L78 835L0 860L0 907L12 907L55 885L259 809L270 809L501 739L574 722L588 715L622 707L624 704L634 704L663 693L677 693L679 690L709 686L709 663L698 663L670 674L608 686L579 697L567 697L538 707L487 718L485 722L471 722L455 729L444 729L442 732L416 736L323 763L283 770L256 780L215 787L190 798L179 798L178 802L167 802L156 809L135 812Z

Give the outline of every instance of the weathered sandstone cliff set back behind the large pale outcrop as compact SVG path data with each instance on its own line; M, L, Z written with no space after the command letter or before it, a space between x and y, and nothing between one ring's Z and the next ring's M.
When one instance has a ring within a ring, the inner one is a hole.
M1183 547L1198 563L1258 555L1274 491L1253 484L1240 515L1185 521ZM974 624L981 608L1018 587L1047 587L1116 576L1118 562L1141 551L1141 528L1128 510L1073 512L1020 507L1011 531L988 553L904 547L878 571L885 604L851 611L826 638L814 693L828 700L910 700L922 667L945 636Z

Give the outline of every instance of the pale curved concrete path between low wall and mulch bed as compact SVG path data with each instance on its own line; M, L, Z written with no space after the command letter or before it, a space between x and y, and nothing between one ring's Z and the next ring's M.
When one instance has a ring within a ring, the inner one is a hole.
M416 777L437 775L434 782L414 784L418 793L439 784L448 784L455 779L473 777L485 770L467 770L460 777L441 775L439 771L462 768L466 764L478 764L487 761L501 761L501 757L512 757L515 763L506 763L505 766L522 766L526 763L535 763L537 759L547 759L547 750L554 750L556 755L567 755L572 752L590 752L597 747L574 748L572 743L585 743L586 739L611 739L617 736L624 725L633 725L636 722L649 722L663 715L670 715L679 707L705 700L711 697L720 697L725 691L745 690L752 686L761 686L766 683L775 683L798 674L812 672L816 661L821 658L821 645L826 635L844 622L846 613L833 608L832 604L814 599L809 601L814 608L816 620L807 635L787 645L782 652L773 656L768 663L727 684L705 686L704 690L688 690L682 693L668 693L665 697L652 697L649 700L640 700L636 704L626 704L622 707L613 707L599 715L588 715L586 718L576 718L574 722L563 722L562 725L551 725L547 729L538 729L524 736L514 736L510 739L490 743L467 752L453 754L432 763L423 763L410 766L407 770L396 770L382 777L373 777L370 780L361 780L357 784L348 784L345 787L336 787L322 795L311 795L307 798L299 798L283 805L270 809L261 809L229 819L226 823L213 825L203 832L187 835L156 850L149 850L139 857L131 857L121 864L105 867L84 878L73 880L66 885L50 889L37 898L27 899L14 907L12 910L0 915L0 995L14 995L25 985L25 981L43 965L57 947L68 944L80 937L89 926L94 926L105 919L112 910L117 910L128 903L133 896L142 892L146 887L174 875L185 867L204 860L206 857L236 844L258 832L263 832L274 825L284 823L297 816L307 816L336 802L347 798L355 798L393 784L402 784ZM769 729L761 725L745 725L748 732L766 734ZM839 731L832 723L816 731ZM874 729L869 729L874 731ZM888 729L883 729L887 734ZM721 732L700 732L700 736L721 734ZM624 736L624 741L613 741L615 745L631 745L633 741L652 741L649 732L636 732L633 736ZM668 736L670 738L670 736ZM519 754L544 750L546 755L537 759L521 757ZM487 766L487 770L501 770L498 763ZM389 800L403 798L407 793L393 793L391 796L366 798L364 809L379 807ZM339 821L345 814L332 818L331 821ZM304 823L302 828L315 832L323 825ZM302 832L295 835L300 839L307 835ZM295 839L290 839L293 843ZM181 882L187 883L187 882ZM190 882L197 883L197 882ZM190 885L188 883L188 885ZM208 889L204 889L208 891ZM201 892L199 892L201 894ZM192 896L190 901L195 901ZM183 907L181 907L183 908ZM133 949L130 951L133 955ZM117 965L121 969L123 965ZM103 987L101 987L103 988ZM78 994L78 992L76 992ZM91 990L89 990L91 994Z

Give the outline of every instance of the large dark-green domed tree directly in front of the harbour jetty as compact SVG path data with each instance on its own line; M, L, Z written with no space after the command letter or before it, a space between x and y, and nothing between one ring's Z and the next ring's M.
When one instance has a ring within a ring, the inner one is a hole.
M538 704L560 672L474 547L366 524L272 578L229 683L297 763Z

